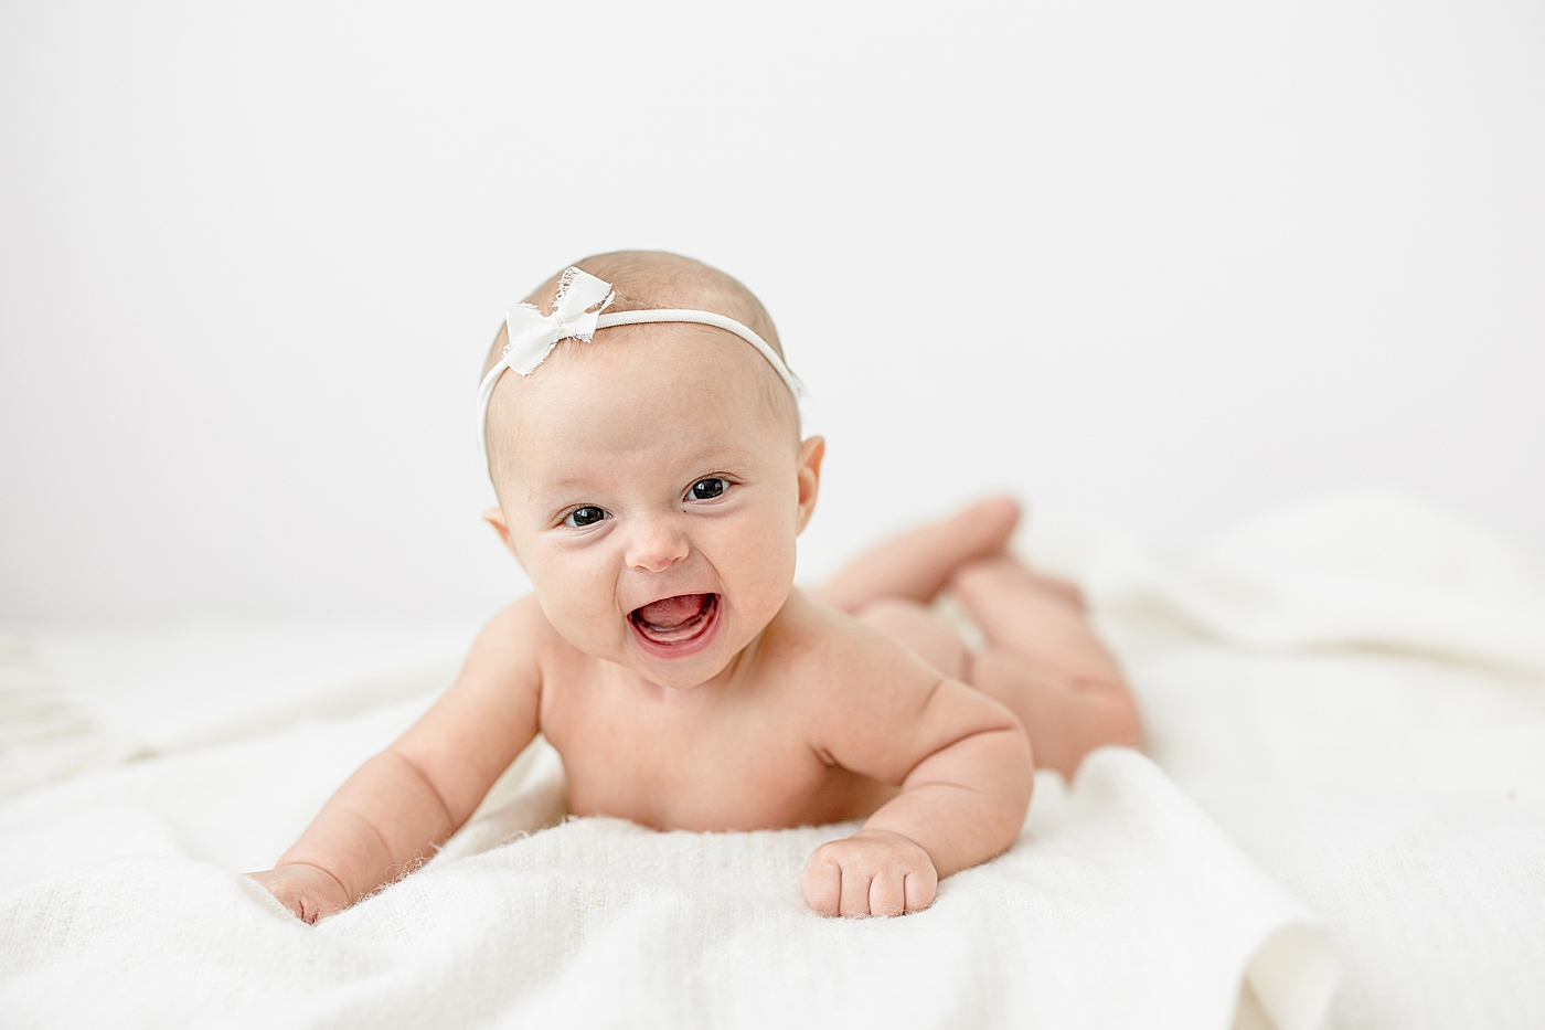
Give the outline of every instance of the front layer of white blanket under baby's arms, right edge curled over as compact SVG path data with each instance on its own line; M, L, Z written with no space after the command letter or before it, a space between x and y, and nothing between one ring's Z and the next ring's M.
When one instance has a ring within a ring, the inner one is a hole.
M188 789L215 761L178 764ZM1131 752L1094 756L1071 792L1043 776L1007 855L896 920L825 920L799 897L808 852L851 826L590 818L488 848L553 807L556 762L535 773L513 812L315 928L192 857L153 813L154 776L138 803L56 789L25 838L6 829L42 877L8 863L6 1025L1225 1027L1253 957L1281 1004L1307 999L1284 1025L1312 1027L1329 993L1313 933L1293 950L1304 912Z

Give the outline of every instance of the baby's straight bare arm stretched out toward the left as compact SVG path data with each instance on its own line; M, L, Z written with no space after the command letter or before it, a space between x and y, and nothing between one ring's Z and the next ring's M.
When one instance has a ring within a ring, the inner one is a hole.
M535 600L496 616L456 684L252 877L307 923L413 869L471 817L538 728Z

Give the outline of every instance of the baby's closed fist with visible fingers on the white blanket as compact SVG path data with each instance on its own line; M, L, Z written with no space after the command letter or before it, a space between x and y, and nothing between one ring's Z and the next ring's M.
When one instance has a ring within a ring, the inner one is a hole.
M890 830L859 830L810 855L799 888L822 916L904 916L933 905L939 874L918 843Z

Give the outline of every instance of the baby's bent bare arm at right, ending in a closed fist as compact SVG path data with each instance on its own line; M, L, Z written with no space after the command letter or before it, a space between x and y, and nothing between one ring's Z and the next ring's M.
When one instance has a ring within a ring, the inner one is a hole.
M901 793L853 837L805 863L805 902L823 916L901 916L933 903L938 880L1014 843L1034 786L1031 745L1001 704L939 679L884 639L833 699L820 749Z

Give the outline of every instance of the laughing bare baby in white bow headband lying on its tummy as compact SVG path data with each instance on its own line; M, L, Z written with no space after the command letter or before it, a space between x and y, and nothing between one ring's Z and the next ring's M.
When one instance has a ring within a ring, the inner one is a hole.
M306 922L352 905L433 854L544 733L575 815L864 820L810 855L805 902L901 916L1015 840L1032 742L1066 772L1136 742L1075 591L1004 555L1012 501L794 589L825 452L800 439L796 390L757 298L689 258L587 258L511 308L480 393L485 518L533 592L255 878ZM944 586L983 653L930 614Z

